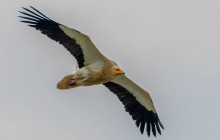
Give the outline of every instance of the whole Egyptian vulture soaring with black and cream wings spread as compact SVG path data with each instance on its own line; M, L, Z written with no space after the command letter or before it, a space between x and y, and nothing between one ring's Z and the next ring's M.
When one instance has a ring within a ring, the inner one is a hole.
M164 127L149 93L128 79L117 63L102 55L87 35L51 20L31 6L23 10L19 11L21 22L59 42L77 60L79 70L58 82L58 89L103 84L123 103L142 134L144 130L148 136L156 136L156 131L161 134L160 128Z

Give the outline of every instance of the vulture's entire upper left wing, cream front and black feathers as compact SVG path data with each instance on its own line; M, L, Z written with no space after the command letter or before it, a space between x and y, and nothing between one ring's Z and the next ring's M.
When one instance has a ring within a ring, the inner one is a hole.
M19 17L24 19L21 22L62 44L76 58L80 68L105 60L87 35L51 20L33 7L23 9L25 12L19 11L23 14Z

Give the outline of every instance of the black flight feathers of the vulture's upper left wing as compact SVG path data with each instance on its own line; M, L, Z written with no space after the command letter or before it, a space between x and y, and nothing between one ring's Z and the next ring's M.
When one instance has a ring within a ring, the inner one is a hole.
M30 6L30 8L23 8L25 12L19 11L22 14L19 17L24 19L21 22L27 23L28 26L36 30L40 30L41 33L63 45L76 58L79 68L82 68L85 62L84 55L82 48L76 43L76 40L70 38L61 30L59 27L61 24L51 20L34 7Z

